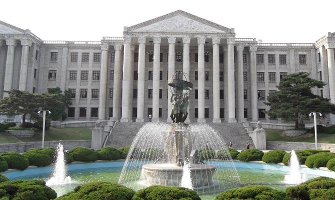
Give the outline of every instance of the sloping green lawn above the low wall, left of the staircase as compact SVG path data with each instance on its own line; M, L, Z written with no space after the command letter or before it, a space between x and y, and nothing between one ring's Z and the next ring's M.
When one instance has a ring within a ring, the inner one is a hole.
M45 131L45 141L52 140L88 140L91 138L92 127L52 128ZM42 141L42 132L35 132L33 137L16 137L7 132L0 132L0 143L23 141Z

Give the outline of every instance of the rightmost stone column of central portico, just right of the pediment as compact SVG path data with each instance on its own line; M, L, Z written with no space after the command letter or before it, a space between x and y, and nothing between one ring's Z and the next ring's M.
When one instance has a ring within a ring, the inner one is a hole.
M250 52L250 96L251 96L251 121L258 120L258 97L257 97L257 72L256 72L256 50L257 46L249 46Z

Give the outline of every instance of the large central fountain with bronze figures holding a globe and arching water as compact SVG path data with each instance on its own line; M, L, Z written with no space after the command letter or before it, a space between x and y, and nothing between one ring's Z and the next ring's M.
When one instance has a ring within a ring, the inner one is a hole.
M207 124L184 123L192 83L177 71L168 85L173 123L152 122L141 127L129 149L119 183L135 190L160 184L205 193L239 186L224 140ZM220 157L224 161L218 162L214 149L224 149Z

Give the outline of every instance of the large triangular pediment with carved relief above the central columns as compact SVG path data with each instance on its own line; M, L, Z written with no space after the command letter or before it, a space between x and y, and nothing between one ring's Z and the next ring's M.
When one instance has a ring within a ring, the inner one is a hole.
M217 32L231 33L231 29L177 10L127 28L131 32Z

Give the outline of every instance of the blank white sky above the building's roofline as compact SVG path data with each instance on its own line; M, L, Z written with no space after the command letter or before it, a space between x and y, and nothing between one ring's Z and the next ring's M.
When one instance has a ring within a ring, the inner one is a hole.
M100 40L184 10L263 42L315 42L335 32L335 0L1 0L0 20L43 40Z

